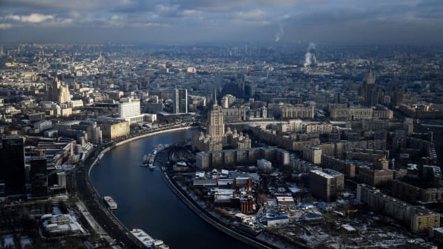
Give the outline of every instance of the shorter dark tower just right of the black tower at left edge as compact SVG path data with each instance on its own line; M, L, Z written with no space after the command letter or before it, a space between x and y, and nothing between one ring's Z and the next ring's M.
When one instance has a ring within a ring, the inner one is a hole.
M45 158L31 160L31 196L33 198L48 197L48 171Z

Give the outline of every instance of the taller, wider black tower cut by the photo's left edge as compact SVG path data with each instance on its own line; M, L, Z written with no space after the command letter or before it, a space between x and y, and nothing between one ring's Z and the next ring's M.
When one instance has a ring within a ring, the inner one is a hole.
M11 135L2 139L0 147L0 179L6 195L23 195L25 190L24 138Z

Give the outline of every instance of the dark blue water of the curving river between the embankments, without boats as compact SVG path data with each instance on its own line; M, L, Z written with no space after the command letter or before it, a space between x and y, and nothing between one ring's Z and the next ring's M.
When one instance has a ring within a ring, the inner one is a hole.
M140 167L143 155L157 144L173 144L193 133L180 130L153 135L112 149L92 168L92 186L101 196L115 199L115 215L128 229L143 229L170 248L247 248L196 216L168 188L159 169Z

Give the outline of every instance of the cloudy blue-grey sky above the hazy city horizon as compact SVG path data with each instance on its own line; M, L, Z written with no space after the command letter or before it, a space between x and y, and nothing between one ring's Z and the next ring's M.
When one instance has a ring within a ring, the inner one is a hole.
M0 43L443 44L443 0L0 0Z

